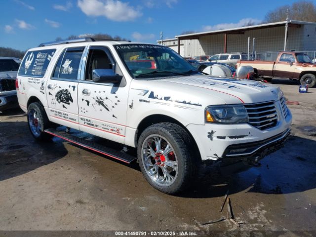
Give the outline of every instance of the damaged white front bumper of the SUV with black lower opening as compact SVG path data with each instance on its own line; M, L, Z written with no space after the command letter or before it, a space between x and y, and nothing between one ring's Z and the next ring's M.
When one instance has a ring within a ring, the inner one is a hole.
M280 117L274 127L260 130L248 123L189 124L202 160L240 160L261 156L268 147L284 141L290 133L292 115Z

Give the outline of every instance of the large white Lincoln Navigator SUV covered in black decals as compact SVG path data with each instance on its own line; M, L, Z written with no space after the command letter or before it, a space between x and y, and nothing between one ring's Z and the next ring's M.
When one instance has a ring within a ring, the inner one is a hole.
M168 194L206 167L258 164L284 143L292 120L280 88L202 75L172 49L145 43L41 44L24 56L16 87L37 140L58 136L123 162L138 158L146 180ZM137 158L126 153L132 148Z

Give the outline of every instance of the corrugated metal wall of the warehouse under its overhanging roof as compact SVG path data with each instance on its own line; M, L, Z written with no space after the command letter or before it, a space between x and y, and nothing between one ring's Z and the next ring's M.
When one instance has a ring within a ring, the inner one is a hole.
M227 35L227 52L247 52L248 37L250 37L250 52L252 52L252 39L255 38L255 51L282 51L284 48L285 27L272 27L260 30L245 31L240 35ZM177 40L164 41L164 45L177 46ZM224 52L224 34L202 36L199 40L181 40L181 55L199 56L213 55ZM289 27L287 50L304 51L316 50L316 26L301 25ZM177 49L175 49L177 51Z

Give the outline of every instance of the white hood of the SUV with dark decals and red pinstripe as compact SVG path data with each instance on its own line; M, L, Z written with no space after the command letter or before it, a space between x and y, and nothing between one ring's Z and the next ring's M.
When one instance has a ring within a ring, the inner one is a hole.
M204 100L216 97L226 104L248 104L265 101L277 101L281 96L278 87L249 79L220 78L206 75L192 75L156 80L158 88L170 88L177 85L190 90L194 97L203 96ZM161 83L164 82L164 83Z

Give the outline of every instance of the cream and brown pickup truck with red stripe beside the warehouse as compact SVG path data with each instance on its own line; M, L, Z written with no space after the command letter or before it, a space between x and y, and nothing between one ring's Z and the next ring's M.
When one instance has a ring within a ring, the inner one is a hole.
M316 64L305 53L280 52L276 61L238 61L239 66L251 66L257 77L299 79L302 85L316 84Z

